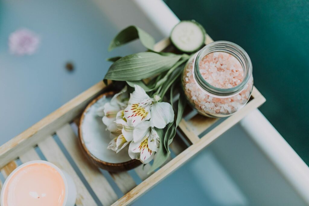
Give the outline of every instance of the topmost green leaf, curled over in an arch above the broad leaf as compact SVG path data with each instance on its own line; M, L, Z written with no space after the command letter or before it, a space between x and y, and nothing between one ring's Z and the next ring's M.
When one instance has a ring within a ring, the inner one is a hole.
M110 43L108 51L111 51L118 46L127 44L137 38L141 40L142 44L147 49L153 50L155 39L141 28L136 26L129 26L117 34L117 36Z

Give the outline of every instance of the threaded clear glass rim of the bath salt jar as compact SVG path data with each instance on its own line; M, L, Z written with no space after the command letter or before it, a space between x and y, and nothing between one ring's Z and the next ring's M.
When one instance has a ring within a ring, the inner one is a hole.
M244 78L243 81L232 88L217 88L209 84L201 75L199 71L199 62L201 58L214 52L226 52L233 55L243 67ZM217 96L233 96L241 92L247 85L252 75L252 62L247 52L239 45L230 41L214 41L205 45L200 51L197 52L193 61L193 77L197 84L206 92Z

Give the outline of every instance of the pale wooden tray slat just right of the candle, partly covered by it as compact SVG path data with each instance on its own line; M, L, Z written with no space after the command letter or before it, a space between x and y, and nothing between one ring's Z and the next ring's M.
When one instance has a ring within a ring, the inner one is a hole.
M61 170L66 171L74 180L77 189L76 205L96 205L95 201L92 199L87 188L80 180L70 162L66 159L65 155L62 153L61 149L55 142L52 136L48 136L42 142L39 143L39 147L46 157L47 161L53 163Z

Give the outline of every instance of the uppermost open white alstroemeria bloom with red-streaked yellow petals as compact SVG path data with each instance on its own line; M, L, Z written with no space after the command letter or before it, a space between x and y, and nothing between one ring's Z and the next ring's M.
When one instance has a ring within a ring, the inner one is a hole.
M135 91L130 95L129 105L125 108L124 117L136 127L140 122L150 119L150 126L164 128L174 121L174 111L167 102L159 102L160 97L150 98L145 90L134 85Z

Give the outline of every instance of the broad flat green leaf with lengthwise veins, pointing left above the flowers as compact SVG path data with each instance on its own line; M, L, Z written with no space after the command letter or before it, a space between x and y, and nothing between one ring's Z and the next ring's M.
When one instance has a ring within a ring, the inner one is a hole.
M152 77L170 69L181 55L162 56L155 52L141 52L114 62L104 79L136 81Z

